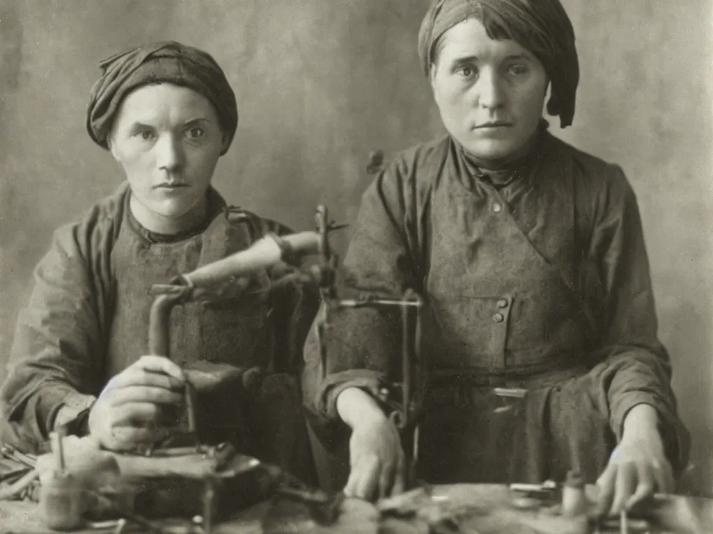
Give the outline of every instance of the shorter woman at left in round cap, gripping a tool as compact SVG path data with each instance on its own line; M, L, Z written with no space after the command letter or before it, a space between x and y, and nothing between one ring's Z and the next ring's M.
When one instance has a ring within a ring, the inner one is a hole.
M255 398L206 397L199 430L207 441L237 439L225 429L245 419L244 451L304 467L296 377L314 296L297 286L270 292L270 273L261 273L231 298L174 308L171 359L146 354L153 284L267 232L289 233L227 206L210 185L237 128L224 73L207 53L175 42L120 53L101 68L87 130L126 182L58 229L36 269L0 390L2 440L37 451L63 426L106 449L152 446L174 429L186 369L259 367L270 376Z

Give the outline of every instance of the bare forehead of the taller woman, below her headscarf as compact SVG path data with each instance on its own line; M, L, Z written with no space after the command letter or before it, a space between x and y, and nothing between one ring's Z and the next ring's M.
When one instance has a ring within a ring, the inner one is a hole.
M527 48L513 39L492 39L478 19L470 18L456 24L443 34L441 61L455 61L477 56L481 61L501 61L510 56L533 58Z

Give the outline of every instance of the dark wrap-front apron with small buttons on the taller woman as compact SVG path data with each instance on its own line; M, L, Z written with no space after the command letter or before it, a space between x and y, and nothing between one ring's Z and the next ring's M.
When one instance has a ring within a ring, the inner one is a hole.
M578 360L588 321L572 277L540 253L530 239L540 229L525 234L494 187L468 190L451 171L431 192L418 475L541 482L577 468L594 481L614 436ZM550 257L573 257L573 239L554 237Z

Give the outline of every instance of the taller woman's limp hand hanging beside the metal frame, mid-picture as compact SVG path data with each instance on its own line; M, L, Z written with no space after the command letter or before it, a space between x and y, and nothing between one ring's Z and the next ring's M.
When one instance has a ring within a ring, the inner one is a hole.
M361 389L349 388L339 394L337 411L352 427L351 471L344 493L366 501L402 493L405 460L396 426Z

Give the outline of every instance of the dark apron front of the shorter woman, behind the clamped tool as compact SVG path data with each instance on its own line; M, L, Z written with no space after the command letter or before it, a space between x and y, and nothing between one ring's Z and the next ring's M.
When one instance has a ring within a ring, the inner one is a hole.
M247 224L232 224L220 212L202 234L152 244L138 235L125 215L111 256L116 288L105 379L147 354L153 284L167 283L180 273L248 248L253 241ZM206 363L264 370L266 376L255 392L246 393L240 379L224 384L217 393L198 392L198 435L206 444L231 441L245 454L287 468L298 455L297 440L306 440L306 434L297 379L275 366L276 326L269 288L270 278L261 272L220 300L175 306L168 356L189 370L203 369Z

